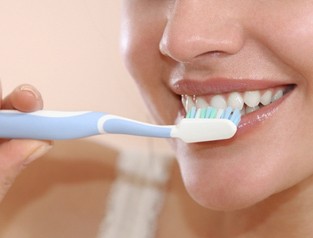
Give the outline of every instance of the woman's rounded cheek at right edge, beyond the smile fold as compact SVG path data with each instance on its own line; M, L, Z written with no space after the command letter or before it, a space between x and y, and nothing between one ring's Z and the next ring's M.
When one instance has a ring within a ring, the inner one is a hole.
M258 30L262 41L278 60L293 68L304 78L312 78L313 74L312 10L313 6L283 9L279 14L273 13L268 16Z

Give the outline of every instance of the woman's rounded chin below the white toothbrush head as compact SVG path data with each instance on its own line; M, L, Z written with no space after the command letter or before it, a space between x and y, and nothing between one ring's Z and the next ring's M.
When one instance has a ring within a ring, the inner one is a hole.
M255 159L250 151L246 151L250 156L231 156L226 149L221 152L220 147L195 148L178 145L177 159L188 194L208 209L235 211L253 207L297 182L279 173L284 159Z

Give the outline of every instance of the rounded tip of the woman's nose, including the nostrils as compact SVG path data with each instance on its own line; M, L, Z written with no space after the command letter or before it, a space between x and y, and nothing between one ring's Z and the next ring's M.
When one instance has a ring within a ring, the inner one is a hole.
M225 17L184 11L169 18L159 49L175 61L189 62L205 54L235 54L244 44L241 25Z

